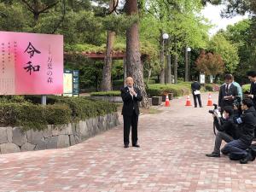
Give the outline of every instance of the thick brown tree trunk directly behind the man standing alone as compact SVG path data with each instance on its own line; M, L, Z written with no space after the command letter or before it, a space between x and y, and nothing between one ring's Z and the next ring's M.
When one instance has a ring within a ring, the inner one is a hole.
M137 15L137 0L126 0L126 14ZM143 96L143 107L149 108L148 96L143 80L143 70L141 63L141 53L139 44L138 24L134 23L126 30L126 67L127 76L134 79L135 84L141 90Z

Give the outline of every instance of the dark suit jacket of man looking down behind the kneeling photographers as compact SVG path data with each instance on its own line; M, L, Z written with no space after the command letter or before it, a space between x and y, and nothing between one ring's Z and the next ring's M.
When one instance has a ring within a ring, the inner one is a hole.
M225 93L226 84L221 85L218 93L218 106L223 108L224 106L233 106L234 101L236 100L224 100L224 96L238 96L237 87L234 84L230 85L230 90Z

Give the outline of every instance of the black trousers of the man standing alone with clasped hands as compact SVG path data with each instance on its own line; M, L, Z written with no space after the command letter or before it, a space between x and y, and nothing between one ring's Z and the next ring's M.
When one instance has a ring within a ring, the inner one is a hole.
M124 118L124 144L129 144L129 135L130 135L130 129L131 129L131 142L132 145L137 144L137 121L138 121L138 115L133 110L133 113L131 116L123 116Z

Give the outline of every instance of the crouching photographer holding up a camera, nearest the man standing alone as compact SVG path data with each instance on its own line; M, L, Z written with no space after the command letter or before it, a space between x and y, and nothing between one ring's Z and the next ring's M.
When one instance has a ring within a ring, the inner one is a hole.
M224 117L220 118L222 122L221 124L218 122L218 118L213 114L214 124L216 125L218 133L215 137L213 152L212 154L206 154L207 157L220 157L220 146L222 140L224 140L226 143L230 143L234 139L237 139L237 126L233 119L234 110L231 106L225 106L223 110Z

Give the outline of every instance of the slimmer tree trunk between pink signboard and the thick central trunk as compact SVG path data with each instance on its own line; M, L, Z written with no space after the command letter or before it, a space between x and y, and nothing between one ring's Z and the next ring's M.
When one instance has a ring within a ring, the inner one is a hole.
M112 12L114 9L115 0L110 0L109 2L109 11ZM108 31L107 38L107 50L104 60L104 66L102 71L102 91L112 90L111 82L111 69L112 69L112 51L113 51L113 42L115 38L115 32Z

